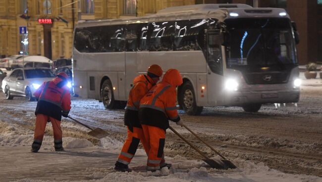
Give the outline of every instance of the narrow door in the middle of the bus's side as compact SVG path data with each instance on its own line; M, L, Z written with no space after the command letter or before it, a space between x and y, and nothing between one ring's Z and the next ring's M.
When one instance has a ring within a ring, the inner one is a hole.
M137 44L138 24L129 24L126 26L125 38L125 96L128 97L130 90L133 87L133 80L137 76Z

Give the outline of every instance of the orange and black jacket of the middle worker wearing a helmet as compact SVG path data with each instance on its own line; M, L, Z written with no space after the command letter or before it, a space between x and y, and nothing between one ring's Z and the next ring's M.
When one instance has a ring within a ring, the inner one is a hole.
M132 127L142 128L138 118L140 100L154 85L152 78L147 75L139 75L133 80L133 88L129 93L124 114L124 125L130 130Z

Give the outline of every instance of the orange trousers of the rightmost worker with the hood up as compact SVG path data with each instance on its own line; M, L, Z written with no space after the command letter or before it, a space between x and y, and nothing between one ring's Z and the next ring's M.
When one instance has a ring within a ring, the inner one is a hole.
M165 131L159 127L142 125L144 137L150 148L148 153L147 170L160 170L160 165L165 164L163 148Z

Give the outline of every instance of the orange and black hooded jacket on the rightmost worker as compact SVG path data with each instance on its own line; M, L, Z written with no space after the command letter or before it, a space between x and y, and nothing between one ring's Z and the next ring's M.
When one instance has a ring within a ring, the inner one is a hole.
M162 82L153 87L140 101L139 119L141 124L166 130L169 121L178 122L180 117L176 108L175 87L182 84L177 70L168 70Z

